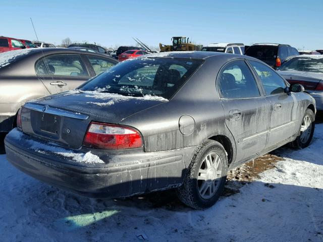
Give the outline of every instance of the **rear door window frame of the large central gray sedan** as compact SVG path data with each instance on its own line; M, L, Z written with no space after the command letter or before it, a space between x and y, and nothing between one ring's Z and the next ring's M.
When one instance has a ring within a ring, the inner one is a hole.
M256 85L258 87L258 91L259 91L259 96L258 97L240 97L240 98L226 98L226 97L222 97L221 96L221 91L220 91L220 88L219 88L219 78L221 76L221 73L223 72L223 70L230 64L232 64L233 62L237 62L237 61L243 61L246 66L249 68L249 71L251 72L251 75L253 76L255 82L256 82ZM258 76L255 75L254 71L251 69L251 66L250 64L247 62L247 59L246 58L235 58L235 59L232 59L228 62L226 62L220 69L219 69L219 72L217 74L217 77L216 77L216 91L218 93L218 96L219 96L219 99L220 100L240 100L240 99L256 99L256 98L263 98L265 97L265 93L263 91L263 87L261 85L261 83L259 83L259 79L258 79Z

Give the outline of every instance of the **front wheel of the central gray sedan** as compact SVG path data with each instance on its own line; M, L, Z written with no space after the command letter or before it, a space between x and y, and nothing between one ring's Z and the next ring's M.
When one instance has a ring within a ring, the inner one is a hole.
M291 143L292 146L299 149L307 147L313 138L314 129L314 113L311 109L306 109L300 127L300 135Z

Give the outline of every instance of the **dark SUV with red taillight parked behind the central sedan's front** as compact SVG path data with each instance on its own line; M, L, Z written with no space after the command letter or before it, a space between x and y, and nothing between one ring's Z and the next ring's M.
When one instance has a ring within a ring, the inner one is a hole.
M260 59L273 68L279 68L287 57L299 55L299 53L296 48L288 44L260 43L251 45L245 55Z

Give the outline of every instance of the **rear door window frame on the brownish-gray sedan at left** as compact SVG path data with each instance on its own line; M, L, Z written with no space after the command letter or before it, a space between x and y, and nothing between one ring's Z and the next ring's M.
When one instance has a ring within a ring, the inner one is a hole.
M84 65L84 67L85 67L85 70L87 71L87 73L88 73L88 76L64 76L64 75L51 75L51 74L49 74L49 70L48 70L48 67L47 67L47 65L45 65L45 67L46 67L46 71L47 71L47 73L48 74L46 74L46 75L39 75L39 74L37 74L37 72L36 72L36 65L38 64L38 62L40 62L40 61L42 61L43 62L43 60L44 59L46 59L46 58L50 58L50 57L52 57L52 56L59 56L59 55L77 55L77 56L79 56L80 58L81 58L81 61L83 61L83 65ZM57 77L57 78L62 78L62 77L68 77L68 78L73 78L73 79L80 79L80 78L91 78L91 77L93 77L93 74L92 74L92 72L90 72L90 70L89 70L89 68L88 68L88 64L84 61L84 56L83 56L84 54L80 54L80 53L67 53L67 54L65 54L65 53L52 53L52 54L48 54L48 55L45 55L45 56L41 56L40 58L38 58L36 61L35 61L35 64L34 64L34 71L35 71L35 74L36 74L36 76L38 77ZM93 70L94 71L94 70ZM92 74L92 75L91 75Z

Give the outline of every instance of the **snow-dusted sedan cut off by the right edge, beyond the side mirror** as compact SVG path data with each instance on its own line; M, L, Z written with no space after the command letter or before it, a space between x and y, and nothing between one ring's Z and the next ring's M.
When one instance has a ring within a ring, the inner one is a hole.
M323 111L323 55L299 55L289 58L279 69L289 83L302 84L314 97L317 110Z

